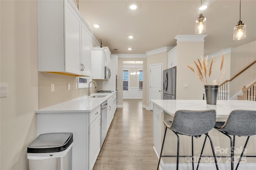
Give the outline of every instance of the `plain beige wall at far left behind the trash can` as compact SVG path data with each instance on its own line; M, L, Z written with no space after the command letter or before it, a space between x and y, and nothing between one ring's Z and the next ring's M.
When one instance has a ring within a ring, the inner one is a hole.
M26 170L26 149L36 138L38 109L37 1L0 1L1 170Z

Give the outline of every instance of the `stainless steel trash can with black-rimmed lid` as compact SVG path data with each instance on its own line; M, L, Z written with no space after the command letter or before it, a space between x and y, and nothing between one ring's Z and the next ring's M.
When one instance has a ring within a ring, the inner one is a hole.
M72 170L73 133L40 134L27 148L28 170Z

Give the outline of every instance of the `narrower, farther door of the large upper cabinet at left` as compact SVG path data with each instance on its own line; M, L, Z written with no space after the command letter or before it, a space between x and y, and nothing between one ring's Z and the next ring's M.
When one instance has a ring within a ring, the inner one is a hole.
M81 38L82 75L91 76L91 34L83 22Z

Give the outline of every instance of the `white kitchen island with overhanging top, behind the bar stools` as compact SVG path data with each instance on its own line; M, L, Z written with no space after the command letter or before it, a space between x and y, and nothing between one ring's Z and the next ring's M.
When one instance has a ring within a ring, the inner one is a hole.
M217 121L226 121L229 113L232 110L235 109L245 109L245 110L256 110L256 102L255 101L243 101L243 100L218 100L217 105L207 105L205 100L151 100L153 102L153 133L154 133L154 150L159 158L160 151L161 151L161 146L162 146L162 140L163 140L163 134L164 134L164 120L172 120L174 113L177 110L206 110L206 109L215 109L216 110L216 117ZM170 130L168 130L170 131ZM223 134L220 134L220 132L217 132L217 130L212 129L209 132L213 144L215 148L227 148L229 149L229 139L224 136ZM204 138L204 137L203 137ZM182 139L185 140L182 142ZM199 140L199 142L198 142ZM196 139L196 144L194 144L194 149L195 149L195 156L198 156L200 154L200 150L202 147L202 138ZM181 155L188 155L191 154L191 144L190 144L190 139L186 138L186 136L181 135L181 143L180 143L180 152ZM245 141L245 137L238 137L236 140L237 146L243 146ZM255 141L256 141L256 136L251 137L251 141L248 143L248 154L249 155L256 155L256 146L255 146ZM172 132L167 132L166 134L166 142L164 145L164 150L163 154L171 154L171 155L176 155L176 137L174 137L174 134ZM199 144L198 144L199 143ZM170 145L171 144L171 145ZM207 143L206 143L207 145ZM172 146L172 147L170 147ZM212 155L211 150L206 150L210 148L210 146L205 147L204 155ZM249 150L250 148L250 150ZM241 150L242 151L242 150ZM216 155L223 154L222 152L215 150ZM240 152L240 150L239 150ZM224 154L228 155L228 152L225 152ZM239 154L235 155L238 156ZM182 158L181 158L182 159ZM197 159L195 159L197 160ZM250 169L250 166L255 167L256 166L256 160L246 158L247 162L252 162L252 163L246 163L246 164L241 164L242 166L249 166L246 167ZM160 166L164 168L170 168L174 165L174 162L176 161L176 158L164 158L164 162L161 161ZM182 161L182 160L181 160ZM226 165L228 158L222 158L221 161L224 161L223 164L220 164L220 169L228 169L228 165ZM190 161L191 162L191 161ZM190 167L191 163L188 161L185 161L183 163L183 166ZM195 161L196 163L197 161ZM220 162L220 161L218 161ZM209 162L205 161L205 163L209 164ZM212 167L214 167L214 161L212 160L210 163L212 163ZM205 166L205 164L200 165L200 166ZM222 167L223 166L223 167ZM242 166L240 168L242 168ZM207 166L208 167L208 166ZM204 167L206 168L206 167Z

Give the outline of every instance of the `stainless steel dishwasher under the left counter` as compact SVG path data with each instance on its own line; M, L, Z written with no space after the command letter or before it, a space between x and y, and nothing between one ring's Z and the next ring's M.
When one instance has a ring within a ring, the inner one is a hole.
M108 109L108 101L104 101L104 103L101 104L101 141L100 141L100 148L102 148L102 145L104 143L104 140L105 140L107 132L108 132L107 109Z

